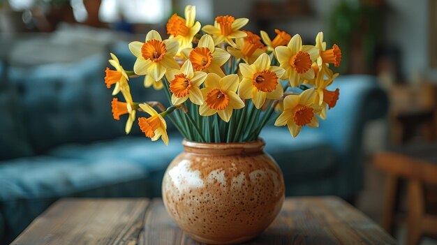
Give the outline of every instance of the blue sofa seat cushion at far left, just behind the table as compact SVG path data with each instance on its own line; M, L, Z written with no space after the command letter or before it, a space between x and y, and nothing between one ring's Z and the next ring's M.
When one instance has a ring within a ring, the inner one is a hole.
M6 242L63 197L147 197L147 170L128 160L35 156L0 165L0 216ZM1 225L0 225L1 226Z

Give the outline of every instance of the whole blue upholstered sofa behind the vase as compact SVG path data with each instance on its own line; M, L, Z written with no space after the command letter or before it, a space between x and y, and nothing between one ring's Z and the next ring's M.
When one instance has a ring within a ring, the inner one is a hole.
M115 45L126 68L133 56ZM156 197L182 138L170 128L170 144L124 135L112 119L111 91L103 84L108 56L73 64L6 66L0 63L0 244L11 242L31 221L64 197ZM363 187L362 134L367 121L385 115L387 98L374 77L343 76L340 101L320 128L295 139L286 127L267 127L266 151L283 170L286 195L353 198ZM163 94L131 80L133 98Z

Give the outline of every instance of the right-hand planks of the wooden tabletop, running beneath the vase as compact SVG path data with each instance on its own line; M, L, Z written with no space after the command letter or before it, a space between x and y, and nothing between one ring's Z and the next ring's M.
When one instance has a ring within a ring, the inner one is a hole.
M145 217L144 244L199 244L171 221L161 200ZM279 216L246 244L396 244L376 223L340 198L288 198Z

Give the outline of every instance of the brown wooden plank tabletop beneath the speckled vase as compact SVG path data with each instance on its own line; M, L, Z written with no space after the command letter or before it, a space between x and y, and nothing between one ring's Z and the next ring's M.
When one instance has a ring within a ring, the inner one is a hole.
M198 244L161 199L64 199L12 244ZM360 211L336 197L287 198L265 232L247 244L396 244Z

